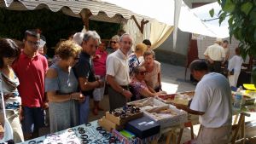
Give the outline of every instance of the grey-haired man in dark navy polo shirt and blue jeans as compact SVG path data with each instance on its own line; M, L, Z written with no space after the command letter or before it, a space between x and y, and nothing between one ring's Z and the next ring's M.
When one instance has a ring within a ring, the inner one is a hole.
M102 80L96 80L91 60L91 55L95 54L100 42L101 37L96 32L85 32L82 42L82 53L79 55L79 62L74 66L75 74L79 78L79 88L86 97L85 101L81 101L79 106L80 124L88 123L89 100L93 90L104 85Z

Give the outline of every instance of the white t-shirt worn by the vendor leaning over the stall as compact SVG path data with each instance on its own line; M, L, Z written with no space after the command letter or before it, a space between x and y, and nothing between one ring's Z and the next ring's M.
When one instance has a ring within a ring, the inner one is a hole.
M199 116L199 122L207 128L231 125L231 98L227 78L219 73L208 73L196 85L190 109L205 112Z

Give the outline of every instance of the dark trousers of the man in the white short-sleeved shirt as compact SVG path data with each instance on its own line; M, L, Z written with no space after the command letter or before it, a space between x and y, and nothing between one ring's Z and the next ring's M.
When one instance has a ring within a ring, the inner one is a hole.
M110 111L119 107L124 107L127 103L126 97L118 91L115 91L110 85L108 85L108 97Z

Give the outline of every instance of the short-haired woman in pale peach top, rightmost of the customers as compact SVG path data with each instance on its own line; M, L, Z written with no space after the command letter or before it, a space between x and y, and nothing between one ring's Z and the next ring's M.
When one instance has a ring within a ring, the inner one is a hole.
M154 60L155 55L153 50L147 50L144 55L142 66L146 67L147 73L145 76L148 89L159 92L161 90L161 67L160 62Z

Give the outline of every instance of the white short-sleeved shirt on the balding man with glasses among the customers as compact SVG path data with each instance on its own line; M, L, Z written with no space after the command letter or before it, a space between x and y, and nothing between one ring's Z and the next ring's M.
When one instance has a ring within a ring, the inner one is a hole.
M108 55L106 65L107 75L113 76L119 85L128 85L131 82L128 58L120 49Z

